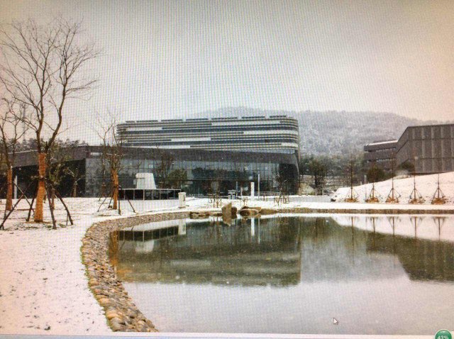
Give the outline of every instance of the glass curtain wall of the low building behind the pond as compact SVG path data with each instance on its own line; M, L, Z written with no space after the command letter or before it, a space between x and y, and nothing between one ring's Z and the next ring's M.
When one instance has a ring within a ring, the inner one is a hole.
M110 194L109 170L103 169L100 158L86 159L86 196ZM292 165L275 162L231 162L231 161L189 161L189 160L150 160L123 159L123 169L119 179L121 187L134 188L135 174L153 173L157 188L182 189L189 195L206 195L214 191L227 194L229 190L250 194L250 182L256 183L260 174L260 191L276 191L277 175L291 179L297 174ZM290 170L289 168L290 167ZM284 172L284 174L282 174Z

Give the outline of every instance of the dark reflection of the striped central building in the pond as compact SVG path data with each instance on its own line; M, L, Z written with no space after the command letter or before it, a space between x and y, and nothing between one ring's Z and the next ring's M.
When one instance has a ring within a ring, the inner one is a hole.
M270 220L231 227L192 222L184 236L170 224L160 235L157 229L121 230L118 272L125 281L297 284L298 230L294 221L277 226Z

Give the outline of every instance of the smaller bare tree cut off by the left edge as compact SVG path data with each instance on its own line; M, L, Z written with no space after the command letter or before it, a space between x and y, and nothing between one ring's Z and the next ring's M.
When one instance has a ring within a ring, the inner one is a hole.
M13 166L16 159L18 142L26 133L25 128L20 128L21 121L16 118L16 111L20 108L16 101L2 99L0 102L0 137L1 158L6 167L6 211L13 207ZM22 107L23 109L23 107Z

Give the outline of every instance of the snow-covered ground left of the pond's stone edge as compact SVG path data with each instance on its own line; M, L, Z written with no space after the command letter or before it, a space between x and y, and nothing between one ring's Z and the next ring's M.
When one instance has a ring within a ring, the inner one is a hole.
M205 204L207 199L189 199L188 204ZM101 306L89 291L80 247L92 223L118 218L116 211L96 212L96 198L71 198L65 202L72 211L74 226L48 229L50 212L45 204L46 224L23 223L27 203L21 201L5 230L0 230L0 334L111 333ZM4 199L0 213L4 211ZM136 210L175 209L177 201L132 201ZM122 201L122 216L132 215ZM66 213L56 204L57 223L65 225Z

